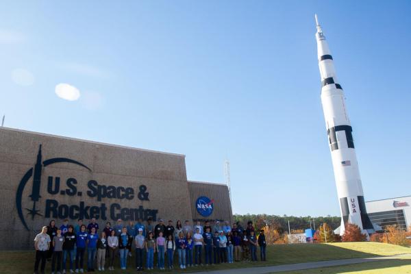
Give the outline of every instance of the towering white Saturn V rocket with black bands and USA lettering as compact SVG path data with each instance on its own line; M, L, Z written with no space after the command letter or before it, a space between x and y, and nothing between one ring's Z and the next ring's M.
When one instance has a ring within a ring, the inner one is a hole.
M347 223L358 225L363 232L372 232L373 225L366 214L356 149L351 134L353 129L345 109L343 88L338 81L334 61L316 14L315 21L322 84L321 103L340 200L340 235L344 234Z

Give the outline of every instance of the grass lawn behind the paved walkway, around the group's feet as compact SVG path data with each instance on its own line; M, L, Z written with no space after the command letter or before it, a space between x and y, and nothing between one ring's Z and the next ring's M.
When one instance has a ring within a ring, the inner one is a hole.
M267 247L266 262L234 262L234 264L218 264L214 266L198 266L185 271L177 266L175 270L151 271L151 273L182 273L190 271L206 271L219 269L235 269L253 266L272 266L279 264L294 264L299 262L316 262L321 260L337 260L347 258L367 258L374 256L390 256L403 253L411 254L408 247L399 247L378 242L340 242L327 245L296 244L271 245ZM260 254L257 254L260 256ZM134 256L134 251L133 251ZM156 257L156 254L155 254ZM86 256L85 256L86 258ZM86 260L85 260L86 262ZM106 262L107 265L107 262ZM155 262L154 262L155 265ZM50 273L51 263L47 262L46 272ZM110 273L135 273L134 257L127 261L127 271L119 270L119 259L116 259L116 271ZM0 251L0 273L30 273L34 267L34 251ZM107 267L106 267L107 268ZM306 273L306 272L304 272Z

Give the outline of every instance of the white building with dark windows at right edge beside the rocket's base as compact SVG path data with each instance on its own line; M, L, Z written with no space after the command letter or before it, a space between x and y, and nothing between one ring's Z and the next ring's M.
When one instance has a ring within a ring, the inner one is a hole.
M366 212L371 223L384 229L387 225L398 225L401 229L410 229L411 196L383 200L366 201Z

